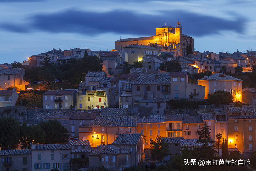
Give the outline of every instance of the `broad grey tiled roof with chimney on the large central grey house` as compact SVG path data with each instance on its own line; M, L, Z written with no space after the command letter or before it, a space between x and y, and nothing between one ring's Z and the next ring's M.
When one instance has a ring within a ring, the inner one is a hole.
M158 75L158 78L157 76ZM141 74L134 80L133 84L170 84L170 73Z

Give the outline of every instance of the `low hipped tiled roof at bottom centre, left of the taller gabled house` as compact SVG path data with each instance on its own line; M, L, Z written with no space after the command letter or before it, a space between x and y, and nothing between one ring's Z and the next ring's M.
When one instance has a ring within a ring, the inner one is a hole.
M114 145L99 145L95 150L89 155L101 155L101 154L125 154L130 153L122 148L116 147Z

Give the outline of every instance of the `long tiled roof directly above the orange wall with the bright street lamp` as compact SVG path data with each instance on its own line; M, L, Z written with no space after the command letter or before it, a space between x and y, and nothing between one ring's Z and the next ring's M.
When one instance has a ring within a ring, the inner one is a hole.
M97 116L94 127L136 127L138 116Z

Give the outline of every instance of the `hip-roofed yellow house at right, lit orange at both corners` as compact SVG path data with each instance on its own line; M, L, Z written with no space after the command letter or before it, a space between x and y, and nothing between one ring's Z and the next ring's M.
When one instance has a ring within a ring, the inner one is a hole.
M204 76L198 79L198 85L205 86L205 98L208 93L212 94L215 91L224 90L230 92L233 96L233 101L242 102L242 81L238 78L223 73L215 73L211 76Z

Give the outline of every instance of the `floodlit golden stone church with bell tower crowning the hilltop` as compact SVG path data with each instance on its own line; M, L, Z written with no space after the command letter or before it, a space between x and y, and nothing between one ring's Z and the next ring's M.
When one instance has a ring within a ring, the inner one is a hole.
M178 21L176 27L162 26L155 28L155 36L120 39L115 41L115 49L123 50L125 46L132 44L148 45L149 43L157 43L164 46L170 46L173 51L177 51L177 56L186 55L186 47L191 44L194 49L194 39L190 36L182 34L182 26Z

